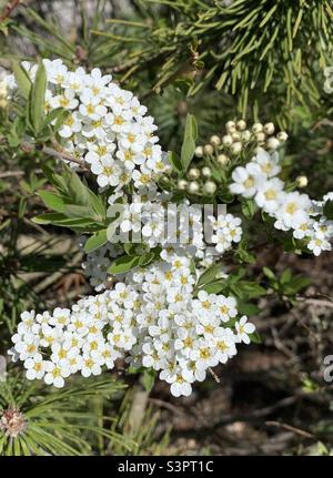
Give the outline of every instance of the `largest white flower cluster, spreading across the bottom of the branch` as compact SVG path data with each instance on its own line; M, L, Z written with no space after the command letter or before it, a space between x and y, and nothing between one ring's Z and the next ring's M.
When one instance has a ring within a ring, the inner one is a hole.
M160 372L172 395L189 396L191 384L225 364L255 329L245 316L238 319L233 297L201 291L193 298L190 265L185 256L170 254L71 309L24 312L12 337L12 359L24 363L28 379L63 387L70 375L99 375L125 356L134 367Z

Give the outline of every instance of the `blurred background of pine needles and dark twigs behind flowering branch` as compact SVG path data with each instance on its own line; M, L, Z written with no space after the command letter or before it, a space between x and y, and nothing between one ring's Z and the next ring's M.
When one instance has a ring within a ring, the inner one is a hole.
M284 164L292 177L309 177L305 192L313 197L333 190L333 94L324 89L332 39L331 0L0 0L2 69L10 69L13 58L37 57L62 58L71 68L100 67L148 105L165 150L180 148L188 112L198 120L201 144L222 134L228 120L273 121L290 135ZM90 288L74 237L31 222L42 210L34 195L44 181L41 157L20 150L10 154L1 138L1 108L0 120L4 354L23 309L69 305ZM313 285L292 311L281 298L259 302L264 343L224 367L221 385L211 379L193 397L169 401L161 384L148 396L138 379L120 370L108 386L87 387L85 395L73 384L83 395L71 401L36 385L26 393L11 367L10 379L0 382L0 410L30 414L30 435L21 441L0 438L0 450L329 454L333 400L321 372L323 357L333 352L332 263L325 255L286 260L269 250L253 273L262 265L278 275L291 266ZM133 386L125 393L123 384ZM244 403L244 396L251 398ZM67 418L71 428L63 425Z

